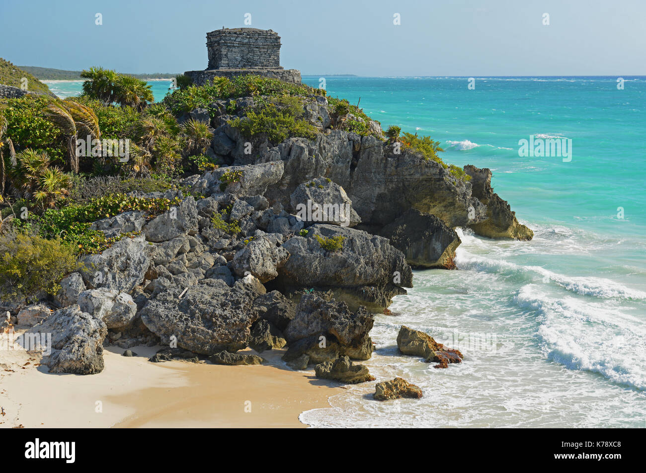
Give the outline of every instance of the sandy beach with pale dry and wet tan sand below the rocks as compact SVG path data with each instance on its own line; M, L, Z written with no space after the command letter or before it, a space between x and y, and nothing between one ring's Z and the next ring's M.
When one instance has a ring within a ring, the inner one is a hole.
M149 362L159 348L133 347L137 357L105 348L103 372L85 376L1 350L0 427L306 427L298 415L340 392L313 371L286 368L284 350L262 353L267 363L256 366Z

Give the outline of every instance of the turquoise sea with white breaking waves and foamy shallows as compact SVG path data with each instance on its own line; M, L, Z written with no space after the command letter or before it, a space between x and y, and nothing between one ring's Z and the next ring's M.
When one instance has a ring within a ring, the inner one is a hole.
M459 270L415 271L397 317L378 315L377 380L421 400L353 386L310 410L313 426L646 427L646 78L327 77L384 129L428 134L444 161L489 167L530 242L459 233ZM318 76L304 76L314 87ZM57 94L75 94L56 83ZM169 81L153 82L156 99ZM80 85L80 83L78 83ZM57 90L58 89L58 90ZM519 140L572 140L571 160L521 157ZM464 353L435 370L397 353L401 324Z

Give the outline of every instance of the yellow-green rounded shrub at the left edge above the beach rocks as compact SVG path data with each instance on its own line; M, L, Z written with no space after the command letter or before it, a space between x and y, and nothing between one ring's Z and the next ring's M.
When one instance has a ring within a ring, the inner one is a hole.
M61 239L46 240L30 233L0 235L0 292L3 297L37 299L40 291L55 294L58 282L79 269L74 249Z

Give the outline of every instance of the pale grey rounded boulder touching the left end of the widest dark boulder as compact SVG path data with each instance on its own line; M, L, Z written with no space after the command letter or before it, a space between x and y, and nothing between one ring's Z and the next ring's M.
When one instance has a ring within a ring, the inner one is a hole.
M260 282L267 282L278 276L280 269L289 258L286 249L276 246L275 241L267 237L254 238L233 257L232 268L236 275L242 277L251 273Z

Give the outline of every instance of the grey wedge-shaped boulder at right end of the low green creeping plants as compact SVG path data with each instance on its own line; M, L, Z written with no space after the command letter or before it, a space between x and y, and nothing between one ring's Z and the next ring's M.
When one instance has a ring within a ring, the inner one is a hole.
M143 227L149 242L165 242L180 235L196 235L198 231L198 211L193 196L188 196L180 205L156 216Z

